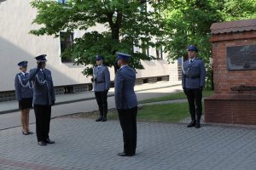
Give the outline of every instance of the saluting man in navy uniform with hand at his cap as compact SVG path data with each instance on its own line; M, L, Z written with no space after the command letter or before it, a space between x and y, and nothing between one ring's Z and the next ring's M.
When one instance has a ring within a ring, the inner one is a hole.
M45 69L46 54L39 55L38 67L29 71L28 79L34 82L33 105L36 116L36 131L39 145L54 144L49 139L49 122L51 106L55 104L55 89L52 82L51 72Z

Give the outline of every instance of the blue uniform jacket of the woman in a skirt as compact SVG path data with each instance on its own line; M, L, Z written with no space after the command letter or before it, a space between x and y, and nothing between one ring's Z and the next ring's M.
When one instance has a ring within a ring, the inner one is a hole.
M29 82L21 72L15 76L15 94L19 101L33 97L32 82Z

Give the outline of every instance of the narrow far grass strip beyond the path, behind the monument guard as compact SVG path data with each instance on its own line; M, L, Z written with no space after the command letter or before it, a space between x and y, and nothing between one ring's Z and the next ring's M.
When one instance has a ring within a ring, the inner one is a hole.
M213 94L212 90L203 90L203 97L207 97ZM139 101L140 104L144 103L151 103L151 102L157 102L157 101L166 101L166 100L173 100L173 99L187 99L186 95L183 92L173 93L169 94L163 97L159 98L152 98L152 99L144 99L142 101Z

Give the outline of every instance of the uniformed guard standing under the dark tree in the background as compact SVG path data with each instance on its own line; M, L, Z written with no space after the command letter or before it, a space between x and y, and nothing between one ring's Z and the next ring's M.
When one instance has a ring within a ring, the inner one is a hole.
M96 122L106 122L108 113L108 90L110 87L110 75L108 67L103 65L103 56L96 55L96 67L93 69L94 94L99 106L100 116Z

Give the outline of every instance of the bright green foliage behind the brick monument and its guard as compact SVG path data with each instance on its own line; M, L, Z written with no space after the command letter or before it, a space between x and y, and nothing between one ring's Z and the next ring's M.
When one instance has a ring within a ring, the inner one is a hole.
M256 17L256 0L166 0L165 50L169 60L183 56L195 44L207 67L207 88L212 88L212 23Z

